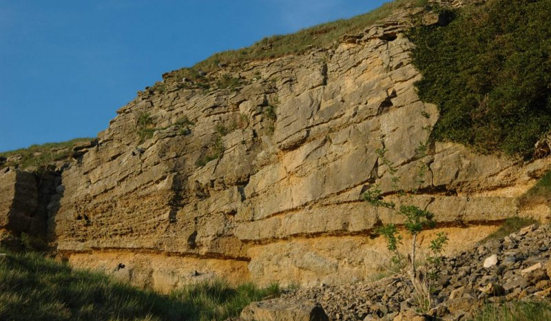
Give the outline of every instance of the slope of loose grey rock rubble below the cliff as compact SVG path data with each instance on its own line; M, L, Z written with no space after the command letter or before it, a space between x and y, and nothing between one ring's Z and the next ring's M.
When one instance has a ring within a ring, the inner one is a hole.
M298 289L290 301L318 302L330 320L467 320L486 303L551 299L551 225L531 225L472 251L443 258L435 284L435 306L415 315L415 293L407 277ZM487 258L497 261L485 267ZM409 316L407 316L409 315Z

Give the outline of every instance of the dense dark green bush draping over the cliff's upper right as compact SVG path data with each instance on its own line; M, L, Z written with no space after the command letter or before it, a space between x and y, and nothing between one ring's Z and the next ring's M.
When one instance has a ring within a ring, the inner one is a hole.
M549 0L494 0L410 33L419 97L440 111L433 138L532 154L551 128L549 12Z

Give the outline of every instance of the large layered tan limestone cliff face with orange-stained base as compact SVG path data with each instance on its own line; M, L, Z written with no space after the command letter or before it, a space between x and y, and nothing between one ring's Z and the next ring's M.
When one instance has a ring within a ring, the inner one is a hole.
M331 49L207 75L238 83L227 88L166 74L162 92L141 92L118 110L98 144L63 171L59 211L48 216L57 251L162 290L201 276L364 280L388 260L382 238L368 236L381 222L400 223L361 197L373 184L393 194L382 148L405 189L428 168L411 201L439 227L422 246L441 229L455 241L450 251L481 240L519 214L517 197L550 162L451 143L419 152L438 112L415 92L421 75L404 30L416 13L395 12Z

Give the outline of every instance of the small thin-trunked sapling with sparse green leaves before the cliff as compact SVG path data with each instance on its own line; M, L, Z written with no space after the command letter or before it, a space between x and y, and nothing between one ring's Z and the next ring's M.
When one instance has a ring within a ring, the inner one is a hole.
M395 203L392 200L385 200L379 185L373 185L370 189L368 189L363 194L363 198L377 209L380 207L390 209L391 211L393 211L394 214L402 216L402 218L404 218L404 227L406 231L408 231L408 233L413 237L410 245L410 253L407 256L404 256L398 251L398 245L402 243L402 236L399 234L396 225L386 224L382 227L377 228L376 231L378 234L381 234L384 238L386 238L387 249L394 254L391 258L393 264L399 265L405 257L408 258L409 276L415 290L417 291L419 304L422 304L425 308L428 308L430 307L430 282L431 280L435 280L438 274L437 270L440 262L441 252L443 251L444 245L446 245L448 236L446 236L446 234L444 234L443 232L439 233L437 234L437 238L430 243L429 248L430 251L432 251L433 253L433 255L428 258L428 262L430 264L430 273L427 274L424 271L417 271L415 262L417 251L417 235L424 229L432 229L435 227L435 215L430 211L427 211L426 209L421 209L417 207L416 205L405 204L403 198L404 196L408 196L408 194L403 189L398 188L399 176L396 175L397 168L391 161L388 161L388 158L386 158L385 149L377 149L376 152L379 155L379 159L382 164L388 167L388 173L391 174L392 187L395 191L395 194L397 194L398 196L398 202ZM419 154L422 154L422 156L425 156L426 145L421 145L417 149L417 152L419 152ZM417 191L424 183L423 178L425 171L426 164L422 163L419 166L419 171L417 172L417 176L415 178L417 187L413 189L412 193L410 193L409 196L411 196L412 194L417 194Z

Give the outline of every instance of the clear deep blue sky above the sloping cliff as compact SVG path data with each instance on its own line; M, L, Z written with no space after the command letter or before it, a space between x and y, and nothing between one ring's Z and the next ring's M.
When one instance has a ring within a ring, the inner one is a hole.
M0 0L0 152L95 137L161 74L384 0Z

